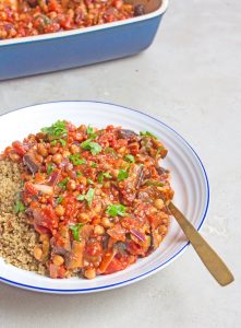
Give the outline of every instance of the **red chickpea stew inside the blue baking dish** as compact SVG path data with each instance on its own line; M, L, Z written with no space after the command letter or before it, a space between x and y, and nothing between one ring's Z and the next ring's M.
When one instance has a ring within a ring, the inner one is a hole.
M123 0L0 0L0 39L126 20L145 13Z

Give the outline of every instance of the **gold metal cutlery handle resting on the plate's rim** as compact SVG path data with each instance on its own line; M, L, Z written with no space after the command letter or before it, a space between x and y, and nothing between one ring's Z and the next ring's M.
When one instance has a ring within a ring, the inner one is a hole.
M210 274L220 285L225 286L231 283L234 278L217 253L207 244L207 242L172 202L170 202L168 208Z

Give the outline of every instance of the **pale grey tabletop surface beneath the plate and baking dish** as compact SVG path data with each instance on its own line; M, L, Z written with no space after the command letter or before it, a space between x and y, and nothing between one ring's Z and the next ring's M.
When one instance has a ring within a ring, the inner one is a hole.
M155 43L138 56L0 83L1 113L98 99L176 128L207 168L210 207L202 232L236 276L220 288L189 248L156 276L106 293L55 296L0 284L0 327L241 326L240 58L239 0L172 0Z

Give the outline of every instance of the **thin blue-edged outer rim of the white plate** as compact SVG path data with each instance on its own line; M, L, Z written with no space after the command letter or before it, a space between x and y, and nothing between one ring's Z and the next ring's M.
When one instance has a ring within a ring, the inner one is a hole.
M207 178L207 174L206 174L206 171L205 171L205 167L200 159L200 156L197 155L197 153L194 151L194 149L190 145L190 143L182 137L180 136L174 129L172 129L171 127L169 127L167 124L162 122L161 120L159 120L158 118L156 117L153 117L146 113L143 113L138 109L133 109L133 108L129 108L129 107L125 107L125 106L121 106L121 105L117 105L117 104L112 104L112 103L106 103L106 102L97 102L97 101L56 101L56 102L49 102L49 103L40 103L40 104L35 104L35 105L31 105L31 106L25 106L25 107L21 107L21 108L16 108L12 112L9 112L9 113L4 113L1 116L4 116L4 115L8 115L10 113L13 113L13 112L17 112L17 110L22 110L22 109L25 109L25 108L28 108L28 107L35 107L35 106L39 106L39 105L49 105L49 104L58 104L58 103L96 103L96 104L105 104L105 105L109 105L109 106L116 106L116 107L120 107L120 108L124 108L126 110L130 110L130 112L135 112L137 114L141 114L143 116L146 116L148 118L152 118L154 119L155 121L157 121L158 124L165 126L166 128L168 128L169 130L171 130L172 132L174 132L176 136L178 136L189 148L190 150L194 153L197 162L200 163L201 165L201 168L203 171L203 174L204 174L204 177L205 177L205 183L206 183L206 192L207 192L207 197L206 197L206 206L205 206L205 210L204 210L204 213L203 213L203 218L201 220L201 223L197 227L197 230L200 230L204 223L204 220L206 218L206 214L207 214L207 210L208 210L208 206L209 206L209 183L208 183L208 178ZM20 282L15 282L15 281L12 281L12 280L9 280L9 279L5 279L3 277L0 277L0 281L4 282L4 283L8 283L8 284L11 284L11 285L15 285L15 286L19 286L19 288L22 288L22 289L27 289L27 290L31 290L31 291L36 291L36 292L48 292L48 293L61 293L61 294L68 294L68 293L87 293L87 292L97 292L97 291L101 291L101 290L110 290L110 289L113 289L113 288L120 288L120 286L124 286L126 284L130 284L134 281L140 281L144 278L147 278L148 276L150 276L152 273L154 273L155 271L157 272L158 270L160 270L162 267L166 267L169 262L173 261L174 258L178 258L178 256L180 256L184 250L185 248L190 245L189 242L186 242L186 244L179 250L177 251L172 257L170 257L168 260L166 260L164 263L157 266L156 268L152 269L152 270L148 270L147 272L145 273L142 273L142 274L138 274L138 276L135 276L131 279L128 279L128 280L124 280L124 281L121 281L121 282L117 282L117 283L112 283L112 284L107 284L107 285L101 285L101 286L98 286L98 288L88 288L88 289L74 289L74 290L60 290L60 289L47 289L47 288L39 288L39 286L34 286L34 285L28 285L28 284L24 284L24 283L20 283Z

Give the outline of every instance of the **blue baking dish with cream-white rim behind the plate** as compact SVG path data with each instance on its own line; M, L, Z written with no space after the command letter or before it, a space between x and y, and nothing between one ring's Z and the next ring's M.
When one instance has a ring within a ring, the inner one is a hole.
M137 2L145 3L148 13L82 30L0 40L0 81L126 57L146 49L168 0Z

